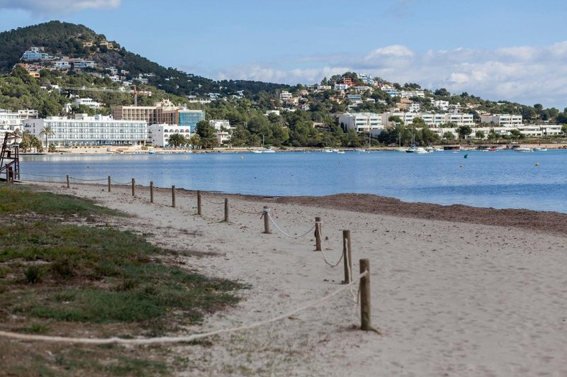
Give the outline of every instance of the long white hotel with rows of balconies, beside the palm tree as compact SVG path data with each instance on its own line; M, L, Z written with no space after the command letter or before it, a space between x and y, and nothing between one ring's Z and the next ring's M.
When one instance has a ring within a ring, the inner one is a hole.
M41 130L51 128L50 142L58 147L75 145L141 145L147 139L147 123L142 120L114 120L109 116L74 118L51 116L45 119L28 119L24 129L40 140Z

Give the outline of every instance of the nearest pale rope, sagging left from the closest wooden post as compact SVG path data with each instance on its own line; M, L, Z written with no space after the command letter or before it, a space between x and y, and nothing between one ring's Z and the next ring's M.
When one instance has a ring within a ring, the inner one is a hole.
M283 320L284 318L291 317L292 315L301 312L302 310L313 308L313 306L319 305L320 303L329 300L333 296L337 296L337 294L341 293L342 291L350 288L354 283L360 281L361 278L368 274L368 270L364 271L360 274L356 279L348 283L346 286L342 286L341 288L333 291L332 293L328 294L320 298L319 300L314 301L313 303L309 303L307 305L301 306L296 310L292 310L291 312L278 315L277 317L270 318L269 320L263 320L259 322L254 322L250 325L239 326L239 327L232 327L230 329L223 329L223 330L216 330L211 332L204 332L201 334L192 334L186 335L182 337L155 337L155 338L142 338L142 339L123 339L123 338L77 338L77 337L50 337L48 335L33 335L33 334L19 334L17 332L8 332L8 331L0 331L0 337L6 337L9 339L20 339L20 340L38 340L43 342L58 342L58 343L77 343L77 344L157 344L157 343L176 343L176 342L192 342L196 339L201 339L205 337L210 337L213 335L218 334L226 334L229 332L237 332L242 330L250 330L254 327L260 327L262 325L267 325L271 322L276 322L279 320Z

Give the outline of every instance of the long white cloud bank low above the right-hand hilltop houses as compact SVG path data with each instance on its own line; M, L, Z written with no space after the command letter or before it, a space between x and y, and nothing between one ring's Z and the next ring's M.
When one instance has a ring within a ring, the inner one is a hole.
M332 74L365 72L388 81L416 82L484 99L567 106L567 41L548 46L494 50L456 48L415 52L404 45L379 47L359 56L302 57L279 64L252 64L223 70L219 77L286 84L311 84ZM291 68L285 64L293 65ZM308 65L308 67L305 67Z

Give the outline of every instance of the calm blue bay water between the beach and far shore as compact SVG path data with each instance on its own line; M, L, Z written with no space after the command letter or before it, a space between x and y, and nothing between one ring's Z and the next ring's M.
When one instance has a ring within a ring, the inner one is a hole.
M468 154L468 158L464 155ZM403 201L567 213L567 150L517 153L285 152L42 155L21 159L40 174L264 196L374 193ZM539 166L536 164L539 163ZM101 181L104 184L105 181Z

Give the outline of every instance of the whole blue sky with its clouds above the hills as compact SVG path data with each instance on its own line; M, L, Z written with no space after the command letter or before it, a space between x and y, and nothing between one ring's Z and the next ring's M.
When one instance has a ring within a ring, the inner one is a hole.
M567 107L563 0L0 0L0 31L81 23L210 79L314 84L347 71Z

